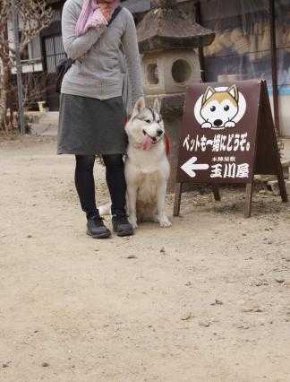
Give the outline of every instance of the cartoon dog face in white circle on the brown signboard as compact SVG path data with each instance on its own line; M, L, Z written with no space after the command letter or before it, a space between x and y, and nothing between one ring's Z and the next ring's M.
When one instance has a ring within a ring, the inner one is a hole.
M200 96L194 107L194 116L202 129L233 128L242 119L246 101L234 84L228 88L213 88Z

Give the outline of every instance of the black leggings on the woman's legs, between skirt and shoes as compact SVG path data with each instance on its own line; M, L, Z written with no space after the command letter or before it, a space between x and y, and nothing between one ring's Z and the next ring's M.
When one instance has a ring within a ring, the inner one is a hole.
M87 218L98 215L95 197L94 164L95 155L76 155L75 187L80 197L81 209ZM106 180L112 201L113 215L124 214L126 182L124 161L121 154L103 155L106 166Z

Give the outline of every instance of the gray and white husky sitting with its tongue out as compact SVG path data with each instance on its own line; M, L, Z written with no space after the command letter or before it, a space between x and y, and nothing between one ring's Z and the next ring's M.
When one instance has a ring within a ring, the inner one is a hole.
M146 107L143 98L139 99L125 131L129 141L124 164L129 221L133 228L137 228L139 221L155 221L161 227L170 227L166 216L170 166L158 99L153 108Z

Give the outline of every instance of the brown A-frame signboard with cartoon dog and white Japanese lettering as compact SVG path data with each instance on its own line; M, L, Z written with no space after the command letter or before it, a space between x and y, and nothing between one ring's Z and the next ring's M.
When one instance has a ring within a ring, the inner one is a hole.
M264 81L195 83L185 97L174 215L183 183L246 185L244 216L251 216L255 174L276 174L282 201L286 187Z

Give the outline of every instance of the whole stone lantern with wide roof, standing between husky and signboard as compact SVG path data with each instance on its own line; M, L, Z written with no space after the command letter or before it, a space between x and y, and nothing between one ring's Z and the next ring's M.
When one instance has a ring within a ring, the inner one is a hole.
M200 82L200 60L194 50L210 45L215 33L201 27L177 7L176 0L151 0L151 10L138 26L144 88L149 105L158 97L171 143L171 177L175 188L178 137L186 86Z

